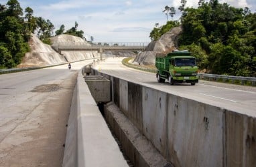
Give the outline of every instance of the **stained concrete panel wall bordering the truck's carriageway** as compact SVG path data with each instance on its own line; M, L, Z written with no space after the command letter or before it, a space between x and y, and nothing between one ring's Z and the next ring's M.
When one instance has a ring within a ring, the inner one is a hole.
M253 116L92 73L111 80L115 105L174 166L256 166Z

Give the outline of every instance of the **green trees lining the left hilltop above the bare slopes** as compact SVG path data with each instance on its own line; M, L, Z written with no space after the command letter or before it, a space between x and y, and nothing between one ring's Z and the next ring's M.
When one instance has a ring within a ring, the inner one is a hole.
M25 13L17 0L9 0L6 5L0 4L0 69L15 67L29 51L28 41L35 33L41 41L50 44L54 25L50 20L34 17L33 9L25 8ZM24 14L24 15L23 15ZM78 23L66 31L66 34L83 37L83 31L77 31ZM56 35L64 32L64 25Z

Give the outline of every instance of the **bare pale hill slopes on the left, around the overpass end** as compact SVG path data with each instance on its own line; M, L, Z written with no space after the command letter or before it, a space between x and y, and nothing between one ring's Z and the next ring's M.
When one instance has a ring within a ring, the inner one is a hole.
M84 39L80 37L75 37L72 35L58 35L51 38L52 45L90 45ZM59 63L68 63L72 61L79 61L82 59L97 57L99 53L97 52L76 52L76 51L66 51L60 55L51 45L42 43L36 35L32 34L29 40L29 46L31 51L25 53L21 63L18 67L35 67L44 65L54 65Z

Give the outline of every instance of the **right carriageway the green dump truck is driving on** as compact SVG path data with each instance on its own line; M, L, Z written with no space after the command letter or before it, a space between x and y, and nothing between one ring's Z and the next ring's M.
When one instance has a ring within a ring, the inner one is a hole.
M157 83L154 73L131 69L121 64L122 58L108 58L97 66L103 73L108 73L132 82L139 82L144 86L162 90L170 94L186 97L198 102L204 102L227 110L233 110L249 116L256 116L256 88L237 86L227 83L216 83L200 80L196 86L188 83L177 83L171 86Z

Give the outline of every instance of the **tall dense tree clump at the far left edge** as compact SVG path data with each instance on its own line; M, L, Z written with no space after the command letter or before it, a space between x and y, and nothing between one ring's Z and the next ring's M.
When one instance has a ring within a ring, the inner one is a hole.
M29 26L21 15L16 0L8 1L6 6L0 4L0 68L17 65L29 51Z

